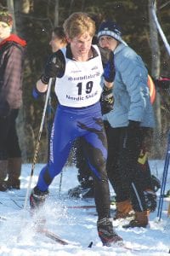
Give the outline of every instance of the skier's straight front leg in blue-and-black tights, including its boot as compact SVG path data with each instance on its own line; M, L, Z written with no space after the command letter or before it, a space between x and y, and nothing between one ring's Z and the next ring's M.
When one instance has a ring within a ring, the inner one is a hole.
M97 128L97 129L96 129ZM122 241L113 230L110 220L110 190L106 172L107 141L102 119L96 119L96 128L85 136L88 163L94 173L94 200L98 212L98 234L103 245Z

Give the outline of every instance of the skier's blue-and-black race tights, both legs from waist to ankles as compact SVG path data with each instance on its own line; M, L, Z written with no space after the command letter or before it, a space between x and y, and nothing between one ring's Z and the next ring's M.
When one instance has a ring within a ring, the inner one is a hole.
M94 177L94 200L99 218L110 218L110 191L106 172L107 141L99 102L86 108L59 105L51 131L49 162L40 172L37 188L46 191L61 172L72 143L81 137Z

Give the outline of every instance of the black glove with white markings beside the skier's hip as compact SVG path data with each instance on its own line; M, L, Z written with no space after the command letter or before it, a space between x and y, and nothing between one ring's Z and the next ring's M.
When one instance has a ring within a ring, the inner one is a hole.
M113 98L112 88L108 89L104 85L103 92L100 99L101 113L105 114L105 113L111 112L111 110L113 109L113 103L114 103L114 98Z

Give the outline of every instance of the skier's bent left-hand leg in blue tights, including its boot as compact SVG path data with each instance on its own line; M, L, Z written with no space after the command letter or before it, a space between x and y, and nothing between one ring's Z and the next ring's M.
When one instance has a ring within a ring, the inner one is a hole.
M74 130L74 120L69 119L68 115L63 113L58 107L51 131L49 161L42 168L38 177L37 186L31 192L30 204L32 208L42 206L48 195L48 186L65 165L75 138Z

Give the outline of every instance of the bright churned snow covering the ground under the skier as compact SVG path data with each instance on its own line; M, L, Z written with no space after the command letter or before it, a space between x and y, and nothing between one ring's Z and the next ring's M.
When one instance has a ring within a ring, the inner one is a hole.
M37 182L38 173L43 165L35 166L31 180L31 188ZM150 160L151 172L162 178L163 160ZM65 166L62 175L62 186L59 194L61 176L54 178L50 186L50 195L45 207L35 217L46 216L48 230L70 242L60 245L48 237L37 234L29 212L29 202L24 210L26 190L31 174L31 164L22 165L21 189L0 192L0 255L2 256L116 256L144 255L164 256L170 249L170 218L167 218L168 199L163 202L161 221L157 221L156 212L150 213L150 224L144 228L124 230L122 223L127 220L114 221L113 225L122 236L127 247L102 247L96 230L97 216L95 208L74 208L77 206L94 205L94 199L69 199L68 189L77 186L77 169L75 166ZM170 174L167 176L166 191L170 189ZM157 195L159 195L158 190ZM111 189L111 195L114 195ZM3 220L2 218L6 218ZM93 241L93 246L88 247Z

